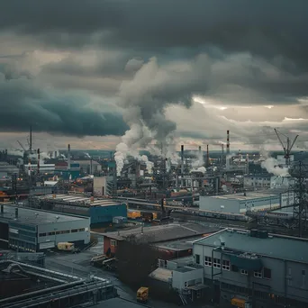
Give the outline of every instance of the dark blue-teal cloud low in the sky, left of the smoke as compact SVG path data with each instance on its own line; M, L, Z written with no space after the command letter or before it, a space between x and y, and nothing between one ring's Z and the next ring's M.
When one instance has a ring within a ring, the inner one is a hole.
M122 115L91 108L84 96L59 95L31 79L0 73L0 131L46 131L66 135L122 135Z

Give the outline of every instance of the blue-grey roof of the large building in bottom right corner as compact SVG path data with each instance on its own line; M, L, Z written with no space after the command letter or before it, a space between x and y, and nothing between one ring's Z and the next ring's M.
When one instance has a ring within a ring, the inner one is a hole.
M225 229L204 239L196 240L195 244L217 247L217 242L221 239L225 242L225 250L237 250L270 258L308 263L308 240L302 238L270 234L267 239L259 239L251 237L249 231Z

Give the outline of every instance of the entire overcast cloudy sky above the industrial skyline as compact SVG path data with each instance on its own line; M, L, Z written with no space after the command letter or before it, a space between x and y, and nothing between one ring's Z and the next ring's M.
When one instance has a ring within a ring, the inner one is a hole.
M274 127L302 149L307 12L307 0L5 1L0 148L32 125L41 148L114 149L142 120L192 149L219 149L227 130L233 149L279 149Z

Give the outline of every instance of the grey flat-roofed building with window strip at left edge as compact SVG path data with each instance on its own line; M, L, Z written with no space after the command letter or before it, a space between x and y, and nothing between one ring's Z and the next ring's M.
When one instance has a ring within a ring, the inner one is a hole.
M90 220L85 217L2 204L0 226L2 240L19 251L51 249L59 242L84 245L90 241Z

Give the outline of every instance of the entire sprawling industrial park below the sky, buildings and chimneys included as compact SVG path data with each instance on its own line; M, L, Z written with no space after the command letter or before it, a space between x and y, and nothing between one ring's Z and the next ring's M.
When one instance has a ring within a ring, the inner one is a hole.
M305 306L308 261L299 255L308 252L308 169L304 153L292 152L297 137L275 132L282 145L276 157L234 154L227 131L220 152L182 145L169 158L163 150L127 155L119 168L116 152L90 156L69 144L41 156L31 128L28 149L18 141L23 151L1 152L2 284L16 287L0 302L85 307L123 297L138 304L113 285L118 277L132 290L143 287L137 299L149 296L150 307L158 299L166 307ZM122 255L133 271L139 249L145 268L136 276L122 268ZM303 279L293 281L296 270ZM24 279L45 287L25 291Z

